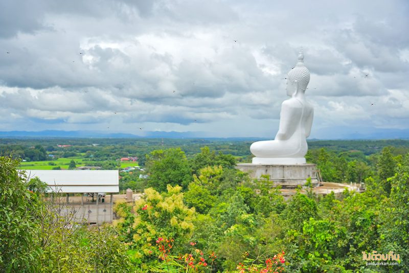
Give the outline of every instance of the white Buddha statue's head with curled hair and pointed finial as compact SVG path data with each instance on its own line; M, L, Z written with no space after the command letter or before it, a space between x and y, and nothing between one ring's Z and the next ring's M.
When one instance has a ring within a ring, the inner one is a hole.
M310 72L304 64L304 54L298 54L298 63L287 74L287 95L293 96L297 92L305 92L310 81Z

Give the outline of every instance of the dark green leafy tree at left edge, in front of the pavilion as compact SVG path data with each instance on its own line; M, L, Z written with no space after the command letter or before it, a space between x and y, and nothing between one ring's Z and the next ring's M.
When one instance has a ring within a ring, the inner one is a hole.
M0 157L0 271L35 271L39 245L38 199L27 190L19 161Z

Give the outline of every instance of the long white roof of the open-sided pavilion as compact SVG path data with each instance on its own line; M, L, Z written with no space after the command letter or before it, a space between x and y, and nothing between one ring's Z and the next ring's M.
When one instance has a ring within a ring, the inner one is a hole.
M38 176L60 193L119 192L118 170L27 170L28 177Z

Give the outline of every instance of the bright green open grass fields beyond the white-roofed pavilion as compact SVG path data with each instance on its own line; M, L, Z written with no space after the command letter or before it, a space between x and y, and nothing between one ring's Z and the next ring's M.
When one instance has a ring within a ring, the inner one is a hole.
M70 162L74 160L77 167L94 166L93 162L85 161L83 157L66 157L58 158L57 160L49 161L31 161L21 162L21 170L52 170L55 167L60 167L61 170L68 170ZM84 162L85 161L85 162ZM50 165L55 164L55 165ZM138 166L138 162L121 162L121 168Z

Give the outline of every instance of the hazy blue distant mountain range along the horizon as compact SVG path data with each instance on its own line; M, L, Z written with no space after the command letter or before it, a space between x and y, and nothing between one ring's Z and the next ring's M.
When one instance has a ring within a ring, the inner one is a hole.
M164 132L164 131L143 131L141 135L131 133L107 133L101 131L0 131L0 138L116 138L116 139L234 139L234 140L260 140L267 138L238 137L238 138L217 138L203 137L208 135L204 132ZM311 135L309 141L314 140L381 140L381 139L409 139L409 129L378 129L378 128L351 128L351 127L328 127L321 128Z

